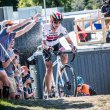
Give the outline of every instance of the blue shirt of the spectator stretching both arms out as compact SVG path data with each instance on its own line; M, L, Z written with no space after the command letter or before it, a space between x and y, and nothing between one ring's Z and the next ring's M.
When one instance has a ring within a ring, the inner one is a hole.
M5 50L8 49L8 46L11 42L11 40L15 37L16 33L8 33L7 32L7 28L3 29L0 31L0 43L1 45L4 47ZM3 50L2 46L0 45L0 61L4 61L5 60L5 51Z

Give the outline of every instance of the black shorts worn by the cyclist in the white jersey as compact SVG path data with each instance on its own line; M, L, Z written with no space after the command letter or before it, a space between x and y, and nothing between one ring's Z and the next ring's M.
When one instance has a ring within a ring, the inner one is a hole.
M61 48L61 45L60 45L60 43L58 43L58 44L56 44L56 45L54 45L52 47L54 48L54 51L58 51L59 48ZM43 56L44 56L46 61L51 60L51 53L48 50L46 50L46 49L43 50Z

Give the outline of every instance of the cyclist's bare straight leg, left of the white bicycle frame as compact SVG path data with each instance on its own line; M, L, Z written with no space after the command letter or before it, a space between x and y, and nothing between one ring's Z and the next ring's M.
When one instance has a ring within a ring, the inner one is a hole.
M51 62L51 61L46 61L45 84L46 84L48 93L51 92L51 87L52 87L52 74L53 74L52 62Z

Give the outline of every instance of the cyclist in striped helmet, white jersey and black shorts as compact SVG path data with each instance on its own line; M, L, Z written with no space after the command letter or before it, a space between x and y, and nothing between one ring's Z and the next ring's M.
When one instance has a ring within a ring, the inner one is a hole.
M59 51L59 49L61 50L61 44L59 42L60 35L63 34L67 42L70 44L72 51L75 51L67 30L61 25L62 20L63 16L60 12L53 12L50 15L50 23L45 24L43 28L42 46L46 65L45 85L47 87L48 94L51 93L53 74L52 62L49 56L52 51ZM66 54L61 55L61 60L63 64L68 63L68 56Z

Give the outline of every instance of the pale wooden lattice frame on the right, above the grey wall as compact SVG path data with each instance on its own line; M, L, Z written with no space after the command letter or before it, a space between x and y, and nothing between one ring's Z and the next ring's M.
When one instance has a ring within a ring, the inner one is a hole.
M106 43L106 32L109 31L110 29L106 29L105 28L105 19L110 19L110 17L100 18L102 29L94 29L93 28L92 22L94 20L99 21L99 18L98 19L93 19L93 18L90 17L90 19L81 18L81 19L75 20L75 32L76 32L76 37L77 37L77 45ZM84 24L87 21L90 22L91 30L86 30L85 29L85 25ZM99 32L102 35L102 39L95 40L95 41L80 42L79 38L78 38L78 35L80 33L83 33L83 31L78 31L78 29L77 29L77 24L78 23L82 24L82 30L84 30L85 33L97 33L97 32Z

